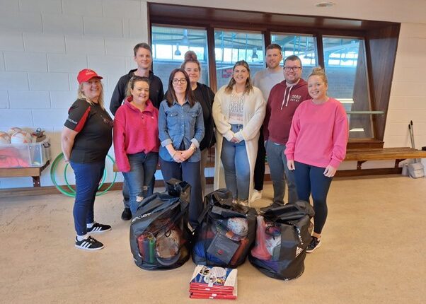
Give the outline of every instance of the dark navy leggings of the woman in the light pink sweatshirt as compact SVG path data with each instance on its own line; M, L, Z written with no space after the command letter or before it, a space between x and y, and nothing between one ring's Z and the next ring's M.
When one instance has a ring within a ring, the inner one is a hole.
M294 168L299 199L309 201L309 197L312 194L313 210L315 211L313 232L321 234L327 219L327 194L333 177L324 175L326 168L306 165L297 161L294 162Z

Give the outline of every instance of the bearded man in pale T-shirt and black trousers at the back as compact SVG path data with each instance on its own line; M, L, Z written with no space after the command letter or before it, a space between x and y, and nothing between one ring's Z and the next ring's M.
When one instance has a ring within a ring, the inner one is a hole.
M260 88L263 98L267 100L270 90L280 81L284 80L280 62L282 60L282 49L280 45L272 43L266 47L266 69L258 71L253 76L253 86ZM258 156L255 163L254 172L254 192L252 201L262 198L263 180L265 178L265 146L263 139L263 129L260 128Z

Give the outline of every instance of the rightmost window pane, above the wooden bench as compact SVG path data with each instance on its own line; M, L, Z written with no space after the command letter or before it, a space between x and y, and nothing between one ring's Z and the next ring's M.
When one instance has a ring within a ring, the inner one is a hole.
M364 40L323 37L328 95L350 111L370 111ZM371 138L372 115L348 114L350 138Z

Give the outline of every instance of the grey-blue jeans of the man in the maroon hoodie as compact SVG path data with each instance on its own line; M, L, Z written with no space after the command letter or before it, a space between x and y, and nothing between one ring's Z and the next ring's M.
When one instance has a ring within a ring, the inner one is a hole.
M285 145L276 144L273 141L266 142L267 163L271 174L272 186L274 187L274 203L284 204L285 183L289 187L288 202L297 201L296 182L294 173L287 168L287 158L284 154Z

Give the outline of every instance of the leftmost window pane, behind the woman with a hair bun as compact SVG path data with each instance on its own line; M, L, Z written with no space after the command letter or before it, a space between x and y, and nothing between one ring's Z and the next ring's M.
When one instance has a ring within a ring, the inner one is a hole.
M197 54L201 64L201 83L209 83L207 53L207 31L195 28L152 26L152 56L154 73L163 81L164 92L168 88L168 77L173 69L182 64L188 49Z

